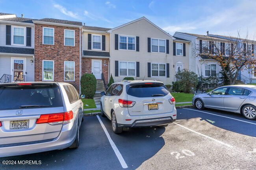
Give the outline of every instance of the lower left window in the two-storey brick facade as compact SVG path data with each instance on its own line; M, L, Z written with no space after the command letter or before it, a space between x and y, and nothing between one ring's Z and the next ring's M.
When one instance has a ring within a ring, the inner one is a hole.
M54 80L54 61L43 60L43 81Z

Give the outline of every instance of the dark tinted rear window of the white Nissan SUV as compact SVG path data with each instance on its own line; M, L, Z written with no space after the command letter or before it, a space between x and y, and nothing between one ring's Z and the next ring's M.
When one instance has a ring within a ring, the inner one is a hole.
M169 91L161 84L139 84L131 86L127 94L134 97L165 96Z

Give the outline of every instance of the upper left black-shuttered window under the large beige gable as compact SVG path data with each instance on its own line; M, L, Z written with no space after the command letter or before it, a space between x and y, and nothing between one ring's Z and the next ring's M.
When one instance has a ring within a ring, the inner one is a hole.
M120 35L119 49L135 50L135 37Z

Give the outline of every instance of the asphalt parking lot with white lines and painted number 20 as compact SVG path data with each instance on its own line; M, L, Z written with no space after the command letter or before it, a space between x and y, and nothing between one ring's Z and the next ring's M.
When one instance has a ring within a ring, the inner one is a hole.
M3 160L36 160L41 165L3 165ZM255 160L256 121L187 108L178 109L177 121L166 128L130 128L119 135L107 118L85 117L78 149L2 157L0 169L255 170Z

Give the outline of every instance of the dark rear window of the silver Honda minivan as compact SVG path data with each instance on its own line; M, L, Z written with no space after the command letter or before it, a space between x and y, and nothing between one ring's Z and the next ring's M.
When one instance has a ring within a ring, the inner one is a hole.
M61 107L57 85L0 86L0 110Z

